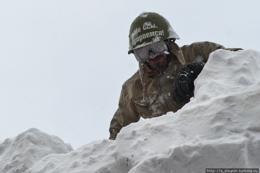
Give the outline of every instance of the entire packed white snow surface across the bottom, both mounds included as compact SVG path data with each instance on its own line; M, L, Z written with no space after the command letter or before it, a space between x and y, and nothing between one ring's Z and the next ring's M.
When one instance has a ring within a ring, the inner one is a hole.
M115 141L93 141L76 150L58 137L29 129L0 143L0 172L259 168L259 105L260 52L220 49L210 54L196 79L194 98L176 113L132 123Z

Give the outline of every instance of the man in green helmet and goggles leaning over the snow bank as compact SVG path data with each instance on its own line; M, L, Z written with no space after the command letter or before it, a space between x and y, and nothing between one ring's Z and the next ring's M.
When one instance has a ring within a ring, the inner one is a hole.
M114 140L122 127L138 122L140 117L178 111L193 97L193 82L209 54L217 49L239 50L211 42L179 47L176 39L179 36L160 14L144 12L133 21L128 54L134 54L139 70L122 86L109 139Z

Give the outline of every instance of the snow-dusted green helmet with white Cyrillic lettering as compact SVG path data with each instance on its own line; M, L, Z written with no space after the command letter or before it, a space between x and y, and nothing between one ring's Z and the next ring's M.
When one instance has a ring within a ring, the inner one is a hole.
M169 21L160 14L143 12L134 19L129 31L129 51L166 39L180 39Z

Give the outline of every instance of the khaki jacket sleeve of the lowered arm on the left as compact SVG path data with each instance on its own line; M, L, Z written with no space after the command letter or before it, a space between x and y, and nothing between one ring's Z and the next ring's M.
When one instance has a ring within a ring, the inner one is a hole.
M119 108L115 112L111 123L110 123L110 137L109 139L115 140L117 134L122 127L125 127L133 122L138 122L140 119L140 114L134 102L129 98L128 93L123 85L121 95L119 98Z

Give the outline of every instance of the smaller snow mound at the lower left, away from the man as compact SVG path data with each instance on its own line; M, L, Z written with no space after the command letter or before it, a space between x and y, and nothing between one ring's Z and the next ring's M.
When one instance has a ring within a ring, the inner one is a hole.
M72 151L59 137L31 128L0 143L0 172L23 172L49 154Z

